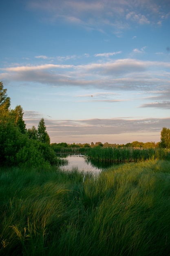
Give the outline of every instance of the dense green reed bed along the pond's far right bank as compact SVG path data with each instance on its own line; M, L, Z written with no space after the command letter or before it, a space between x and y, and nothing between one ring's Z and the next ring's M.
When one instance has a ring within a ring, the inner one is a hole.
M141 162L147 160L170 160L170 150L164 148L102 148L95 147L86 153L98 162Z

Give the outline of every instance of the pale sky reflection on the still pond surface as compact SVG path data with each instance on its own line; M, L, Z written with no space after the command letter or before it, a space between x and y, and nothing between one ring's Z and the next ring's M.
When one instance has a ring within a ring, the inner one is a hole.
M89 171L93 173L99 173L102 169L94 167L90 162L86 162L84 156L80 155L68 155L64 159L68 160L68 165L62 166L62 170L72 170L73 168L78 168L79 171Z

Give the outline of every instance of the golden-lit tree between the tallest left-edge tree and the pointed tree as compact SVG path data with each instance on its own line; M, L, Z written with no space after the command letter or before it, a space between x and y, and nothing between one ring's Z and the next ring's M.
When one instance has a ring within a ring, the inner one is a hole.
M23 115L24 115L24 112L21 105L17 105L14 110L10 111L10 117L11 117L11 120L14 122L15 126L18 126L22 133L25 133L26 124L23 120Z

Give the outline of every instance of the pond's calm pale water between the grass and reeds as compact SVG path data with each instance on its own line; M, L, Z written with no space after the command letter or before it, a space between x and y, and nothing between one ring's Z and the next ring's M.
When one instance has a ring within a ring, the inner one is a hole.
M73 168L78 168L79 171L89 171L99 173L103 170L103 166L98 166L86 159L84 155L60 155L68 161L67 165L61 166L62 170L70 171ZM105 167L106 168L106 167Z

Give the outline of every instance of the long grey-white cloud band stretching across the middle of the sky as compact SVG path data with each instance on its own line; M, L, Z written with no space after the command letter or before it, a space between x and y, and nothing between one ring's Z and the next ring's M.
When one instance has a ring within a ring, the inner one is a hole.
M0 69L0 80L8 83L29 81L53 86L93 87L104 90L170 89L168 62L118 59L86 65L29 65Z

